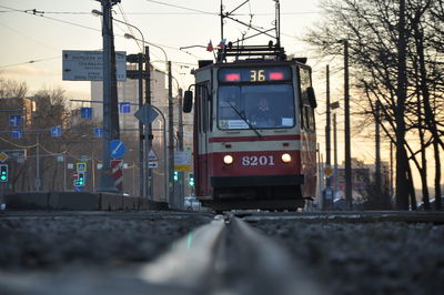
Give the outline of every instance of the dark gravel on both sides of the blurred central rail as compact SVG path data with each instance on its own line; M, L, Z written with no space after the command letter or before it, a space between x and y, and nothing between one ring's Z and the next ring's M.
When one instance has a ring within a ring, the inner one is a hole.
M174 212L2 214L0 294L183 295L181 289L155 289L134 274L169 251L178 238L188 236L185 245L192 245L189 233L213 217ZM291 263L327 294L444 294L444 225L316 216L294 220L294 214L292 218L279 214L271 217L245 220L286 248ZM228 241L233 244L233 240ZM249 275L249 266L255 265L254 257L248 258L251 263L241 262L252 246L238 242L234 248L226 248L238 256L229 253L231 260L218 291L234 291L223 286L242 284L246 279L240 276ZM259 256L266 255L273 253ZM266 279L279 281L271 276L260 281ZM254 282L258 278L250 277L249 284Z

